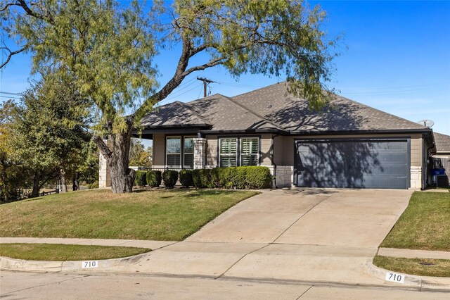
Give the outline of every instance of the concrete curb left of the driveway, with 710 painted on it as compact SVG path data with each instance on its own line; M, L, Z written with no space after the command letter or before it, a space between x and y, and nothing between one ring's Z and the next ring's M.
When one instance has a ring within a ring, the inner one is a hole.
M97 266L95 268L83 268L83 261L25 261L23 259L0 256L0 269L29 272L98 272L101 270L110 270L111 268L120 268L127 265L132 265L134 263L138 263L141 259L146 258L149 255L149 252L147 252L123 258L100 259L96 260Z

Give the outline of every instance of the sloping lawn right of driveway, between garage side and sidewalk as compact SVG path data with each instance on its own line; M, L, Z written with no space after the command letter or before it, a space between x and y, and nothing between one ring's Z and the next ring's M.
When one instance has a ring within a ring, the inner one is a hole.
M380 246L450 251L450 193L414 192Z

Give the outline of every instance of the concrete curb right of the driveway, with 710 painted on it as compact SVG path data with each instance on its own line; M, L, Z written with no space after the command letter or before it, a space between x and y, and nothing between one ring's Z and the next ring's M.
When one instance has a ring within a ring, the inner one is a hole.
M377 277L380 280L385 280L387 273L397 273L404 276L404 283L394 283L386 281L392 285L397 286L409 286L409 287L419 287L420 289L442 289L444 291L450 291L450 278L449 277L428 277L428 276L418 276L418 275L409 275L398 272L393 272L390 270L385 270L383 268L379 268L372 263L371 260L368 260L366 263L367 273Z

